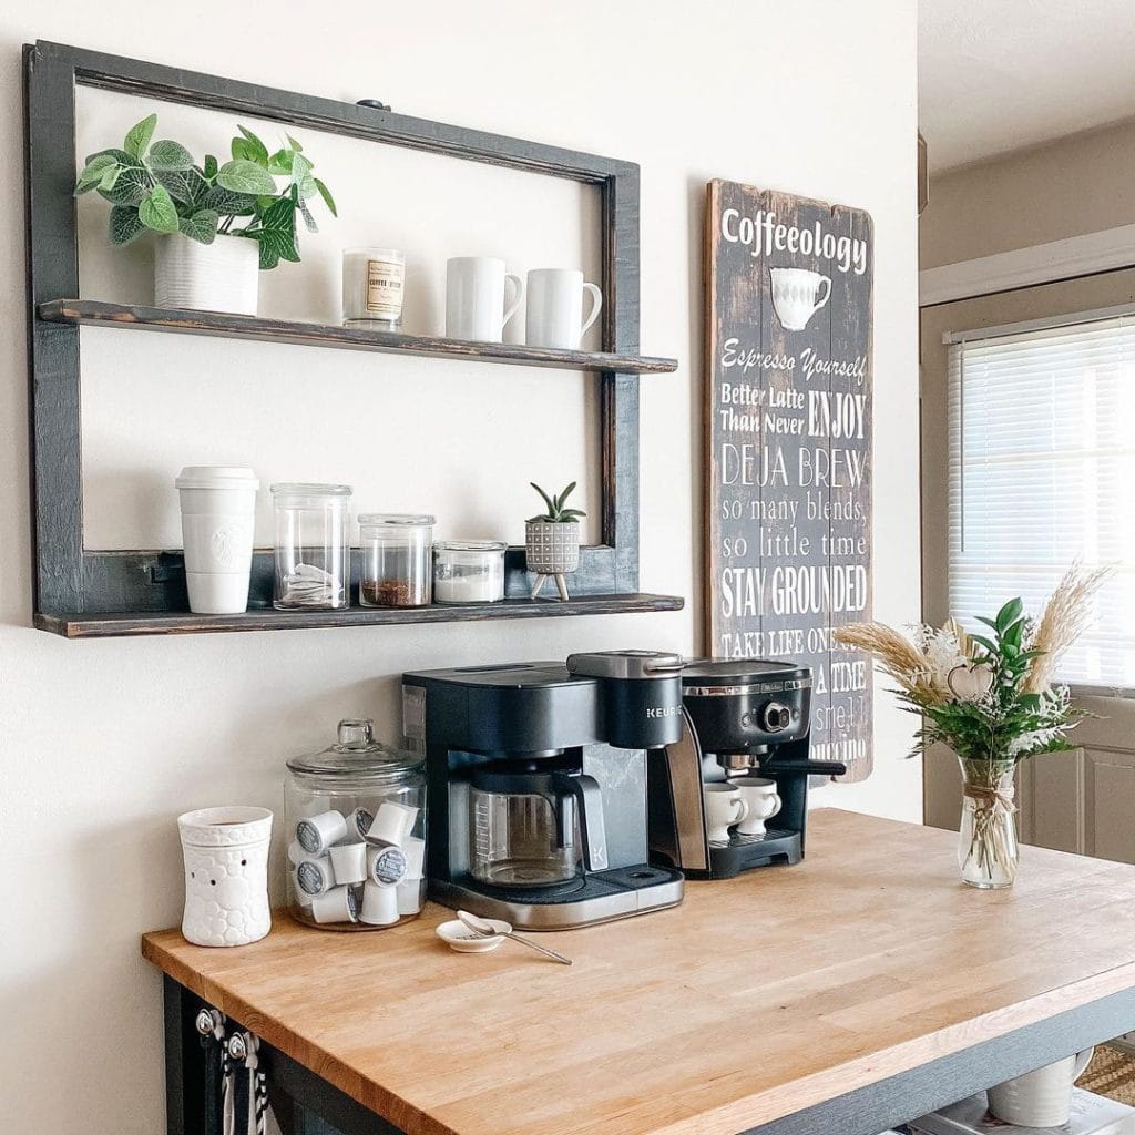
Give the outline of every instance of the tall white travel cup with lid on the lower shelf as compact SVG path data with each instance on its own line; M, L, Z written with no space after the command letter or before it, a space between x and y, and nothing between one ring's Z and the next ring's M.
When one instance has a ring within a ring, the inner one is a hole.
M235 465L186 465L176 481L190 611L232 615L249 607L257 480Z

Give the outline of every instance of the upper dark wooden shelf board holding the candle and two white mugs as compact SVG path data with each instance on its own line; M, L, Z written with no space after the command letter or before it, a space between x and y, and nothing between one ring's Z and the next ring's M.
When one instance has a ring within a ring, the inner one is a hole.
M99 300L51 300L40 304L40 319L52 323L134 327L146 331L216 335L233 339L299 343L314 347L345 347L350 351L382 351L390 354L423 355L430 359L463 359L466 362L555 367L562 370L617 371L621 375L666 375L678 370L676 359L650 359L604 351L558 351L553 347L530 347L514 343L471 343L464 339L338 327L333 323L233 316L221 311L136 308L120 303L103 303Z

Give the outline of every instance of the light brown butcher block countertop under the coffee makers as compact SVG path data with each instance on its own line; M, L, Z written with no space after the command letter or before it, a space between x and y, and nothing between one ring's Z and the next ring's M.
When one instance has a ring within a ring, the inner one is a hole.
M1022 849L960 885L957 835L834 809L808 856L682 906L461 955L452 914L371 934L277 914L143 953L411 1135L732 1135L1135 986L1135 868ZM1135 1027L1135 1022L1132 1022Z

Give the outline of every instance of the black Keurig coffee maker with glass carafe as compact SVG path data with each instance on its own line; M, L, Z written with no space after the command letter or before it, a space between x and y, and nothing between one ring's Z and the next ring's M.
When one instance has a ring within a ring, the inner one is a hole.
M431 898L528 930L680 902L681 874L649 864L646 750L681 735L681 669L627 650L404 674Z

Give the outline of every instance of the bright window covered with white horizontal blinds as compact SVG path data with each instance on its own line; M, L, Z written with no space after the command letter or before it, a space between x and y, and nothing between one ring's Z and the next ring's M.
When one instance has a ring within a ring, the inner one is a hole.
M1132 696L1135 313L1082 319L947 336L950 611L1039 614L1071 561L1113 563L1059 676Z

